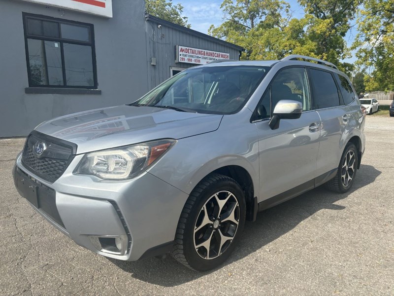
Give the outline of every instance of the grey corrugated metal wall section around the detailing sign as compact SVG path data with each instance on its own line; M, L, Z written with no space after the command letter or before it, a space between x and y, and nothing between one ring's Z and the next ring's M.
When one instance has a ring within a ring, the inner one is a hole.
M162 25L161 28L158 28L158 25ZM186 63L175 63L176 45L230 53L231 60L239 60L238 49L176 30L163 25L162 22L147 21L146 35L146 47L149 50L147 68L148 85L150 88L153 88L170 77L170 67L186 69L197 66ZM156 66L151 65L151 58L156 58Z

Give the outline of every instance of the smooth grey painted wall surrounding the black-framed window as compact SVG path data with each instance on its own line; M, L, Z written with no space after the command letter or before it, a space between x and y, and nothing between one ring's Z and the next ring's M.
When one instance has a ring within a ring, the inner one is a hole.
M121 105L148 90L143 0L114 0L113 18L0 0L0 137L25 136L60 115ZM22 12L94 25L99 95L26 94ZM63 14L63 15L62 15Z

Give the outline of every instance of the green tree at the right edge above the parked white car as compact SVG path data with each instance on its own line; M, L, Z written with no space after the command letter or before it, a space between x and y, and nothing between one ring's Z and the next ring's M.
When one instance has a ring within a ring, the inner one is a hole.
M365 0L357 24L356 64L370 73L365 89L394 90L394 0Z

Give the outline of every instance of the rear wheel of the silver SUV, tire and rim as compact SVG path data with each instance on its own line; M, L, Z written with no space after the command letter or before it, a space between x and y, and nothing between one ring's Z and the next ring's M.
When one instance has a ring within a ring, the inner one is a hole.
M358 161L359 154L356 146L353 143L348 143L339 162L338 171L335 177L325 184L326 188L337 193L347 192L352 187L356 178ZM345 177L343 178L343 176Z

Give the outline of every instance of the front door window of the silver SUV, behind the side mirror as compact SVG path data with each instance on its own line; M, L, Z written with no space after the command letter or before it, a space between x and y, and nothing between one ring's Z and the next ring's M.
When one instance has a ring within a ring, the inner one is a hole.
M271 117L280 100L302 103L303 111L311 110L308 76L305 68L287 68L280 71L271 81L256 110L256 119Z

